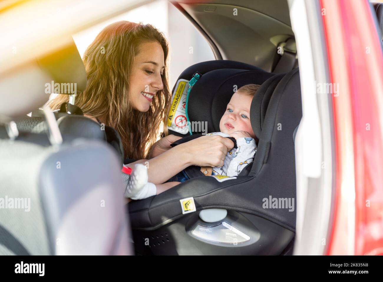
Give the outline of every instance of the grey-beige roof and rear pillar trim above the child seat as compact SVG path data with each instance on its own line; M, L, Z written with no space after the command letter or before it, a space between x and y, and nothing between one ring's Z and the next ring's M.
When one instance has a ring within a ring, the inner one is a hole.
M293 38L286 1L177 1L218 48L222 59L272 71L278 43ZM237 15L233 15L233 9ZM277 56L278 58L278 56Z

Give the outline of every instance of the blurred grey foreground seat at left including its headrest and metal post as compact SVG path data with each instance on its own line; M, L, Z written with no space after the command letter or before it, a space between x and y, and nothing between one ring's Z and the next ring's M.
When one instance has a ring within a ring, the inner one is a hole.
M71 82L86 80L77 75ZM0 254L131 254L114 150L99 140L62 143L51 111L49 138L13 122L47 102L53 79L36 62L0 74Z

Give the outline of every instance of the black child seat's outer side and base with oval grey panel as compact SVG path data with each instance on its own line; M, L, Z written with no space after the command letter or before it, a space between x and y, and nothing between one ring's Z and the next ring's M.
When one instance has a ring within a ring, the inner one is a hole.
M290 248L296 217L293 135L302 116L299 70L271 77L258 91L273 93L268 106L266 100L262 105L254 99L251 105L252 116L259 109L267 111L248 175L223 181L196 177L129 203L136 252L283 254ZM252 126L260 131L253 119ZM286 207L265 205L274 199Z

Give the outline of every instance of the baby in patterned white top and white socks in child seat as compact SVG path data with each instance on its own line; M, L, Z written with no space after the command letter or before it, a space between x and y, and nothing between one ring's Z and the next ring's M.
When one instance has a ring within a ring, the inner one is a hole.
M247 84L242 86L235 92L226 107L221 121L219 122L220 132L208 133L206 135L220 135L223 137L234 137L237 142L237 149L231 149L225 157L222 167L213 167L211 172L209 168L206 170L208 175L227 175L237 176L250 162L254 160L257 145L257 138L252 130L250 123L250 105L260 85ZM123 169L123 171L126 169ZM202 170L201 170L202 171ZM138 200L151 197L156 194L159 185L147 182L146 167L142 164L136 164L131 176L126 172L122 173L124 182L124 195L126 198ZM179 172L177 175L169 179L169 181L184 182L188 180L185 171ZM156 189L157 186L157 189ZM162 189L162 187L161 187ZM166 188L165 188L166 189Z

